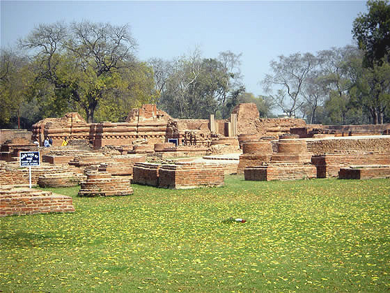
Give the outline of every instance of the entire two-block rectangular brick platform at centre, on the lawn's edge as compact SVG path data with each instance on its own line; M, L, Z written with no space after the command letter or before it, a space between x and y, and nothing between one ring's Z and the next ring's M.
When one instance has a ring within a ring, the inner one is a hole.
M204 163L136 163L133 182L162 188L185 189L224 185L224 167Z

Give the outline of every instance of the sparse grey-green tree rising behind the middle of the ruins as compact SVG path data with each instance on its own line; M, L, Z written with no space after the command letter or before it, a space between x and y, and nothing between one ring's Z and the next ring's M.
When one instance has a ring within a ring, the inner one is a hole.
M244 87L232 73L237 57L221 53L218 59L203 59L199 50L171 62L166 76L159 107L177 118L203 118L215 114L225 118L237 103Z

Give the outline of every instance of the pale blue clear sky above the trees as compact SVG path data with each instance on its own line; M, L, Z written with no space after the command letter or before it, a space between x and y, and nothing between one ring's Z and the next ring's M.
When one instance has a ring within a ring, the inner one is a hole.
M198 46L203 57L242 53L247 91L279 55L354 43L352 22L366 1L3 1L1 47L16 44L40 23L91 20L130 24L137 56L171 60Z

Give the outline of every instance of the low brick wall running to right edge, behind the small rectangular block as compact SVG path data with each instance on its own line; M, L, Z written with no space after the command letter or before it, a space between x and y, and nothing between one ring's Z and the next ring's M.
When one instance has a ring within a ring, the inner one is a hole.
M387 153L328 154L313 156L311 163L317 168L318 178L337 177L341 167L351 165L390 165Z

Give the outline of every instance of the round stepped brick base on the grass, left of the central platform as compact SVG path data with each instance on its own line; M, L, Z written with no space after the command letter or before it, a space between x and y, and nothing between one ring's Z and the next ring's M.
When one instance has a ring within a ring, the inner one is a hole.
M107 172L87 172L87 179L81 182L80 197L132 195L130 179L111 176Z

